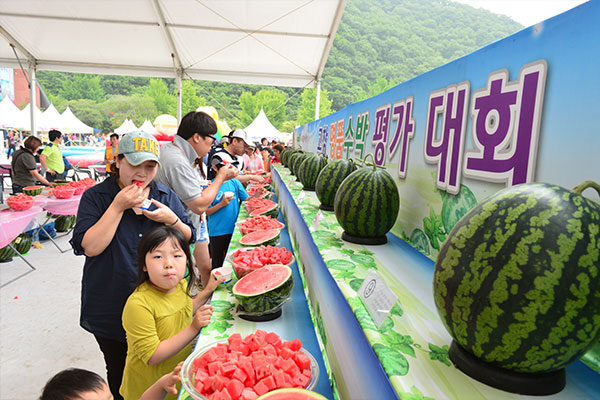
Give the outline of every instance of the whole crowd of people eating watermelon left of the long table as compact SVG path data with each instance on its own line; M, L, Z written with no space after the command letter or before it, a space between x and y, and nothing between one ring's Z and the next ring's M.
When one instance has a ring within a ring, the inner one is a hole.
M107 178L82 195L70 241L85 256L80 325L98 343L107 382L65 370L42 400L88 392L175 398L181 362L210 323L208 300L222 282L211 271L223 264L246 187L263 183L283 150L266 139L252 143L242 129L222 143L216 133L212 117L190 112L162 147L141 131L110 136ZM63 135L51 131L49 140L39 155L45 177L35 160L40 139L28 137L13 154L13 190L64 177Z

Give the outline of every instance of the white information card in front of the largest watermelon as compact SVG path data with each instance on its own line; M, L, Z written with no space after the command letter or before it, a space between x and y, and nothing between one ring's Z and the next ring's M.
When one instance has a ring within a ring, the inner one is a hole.
M358 295L367 307L377 328L381 328L381 324L398 301L398 296L375 272L371 272L367 276L358 290Z

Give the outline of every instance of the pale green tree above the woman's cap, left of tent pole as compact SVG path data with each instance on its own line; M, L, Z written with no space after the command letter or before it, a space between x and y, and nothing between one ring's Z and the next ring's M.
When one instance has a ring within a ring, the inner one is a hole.
M106 124L102 128L104 132L112 132L118 128L125 118L130 118L136 126L140 126L144 120L152 121L160 114L155 99L143 94L112 96L104 102L103 111L108 115Z

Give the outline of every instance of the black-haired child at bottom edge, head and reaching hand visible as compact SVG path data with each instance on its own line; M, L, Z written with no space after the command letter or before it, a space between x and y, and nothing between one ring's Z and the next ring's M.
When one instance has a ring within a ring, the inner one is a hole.
M139 400L162 400L167 393L177 394L182 364L177 364L172 372L157 380ZM57 373L46 383L39 400L113 400L113 395L100 375L70 368Z

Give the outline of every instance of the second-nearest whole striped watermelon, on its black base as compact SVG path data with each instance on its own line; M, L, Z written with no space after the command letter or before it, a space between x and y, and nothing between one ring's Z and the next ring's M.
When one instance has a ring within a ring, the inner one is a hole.
M344 228L342 239L360 244L387 243L385 234L394 226L400 209L398 186L384 168L366 163L344 179L333 208Z

